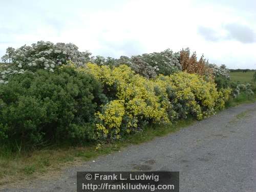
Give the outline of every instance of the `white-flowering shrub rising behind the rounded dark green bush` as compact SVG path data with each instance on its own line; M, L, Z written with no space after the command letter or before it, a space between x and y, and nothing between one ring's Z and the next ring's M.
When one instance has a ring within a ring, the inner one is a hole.
M6 62L6 68L1 72L0 82L6 83L10 75L24 71L45 69L54 72L55 67L65 65L69 60L80 66L90 60L90 55L87 51L78 51L74 44L53 44L50 41L38 41L36 44L18 49L9 47L2 57Z

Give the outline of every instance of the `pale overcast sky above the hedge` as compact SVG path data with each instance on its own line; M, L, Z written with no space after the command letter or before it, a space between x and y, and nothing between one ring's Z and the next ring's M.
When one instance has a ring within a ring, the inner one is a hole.
M189 47L217 65L256 69L255 0L0 1L0 56L39 40L112 57Z

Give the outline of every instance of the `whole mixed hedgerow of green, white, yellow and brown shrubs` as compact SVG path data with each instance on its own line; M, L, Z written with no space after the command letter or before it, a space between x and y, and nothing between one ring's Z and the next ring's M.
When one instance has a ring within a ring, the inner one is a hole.
M229 71L188 49L105 59L39 41L8 48L3 59L10 63L0 75L1 143L119 139L145 125L208 117L231 93Z

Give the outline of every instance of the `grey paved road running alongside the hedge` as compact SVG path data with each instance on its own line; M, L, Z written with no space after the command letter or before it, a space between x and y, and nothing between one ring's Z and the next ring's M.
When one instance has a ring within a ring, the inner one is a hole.
M180 172L180 191L256 191L256 103L224 110L179 132L66 169L58 179L0 191L76 191L77 171Z

